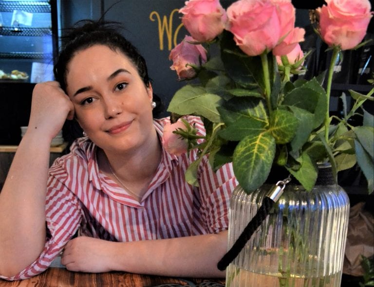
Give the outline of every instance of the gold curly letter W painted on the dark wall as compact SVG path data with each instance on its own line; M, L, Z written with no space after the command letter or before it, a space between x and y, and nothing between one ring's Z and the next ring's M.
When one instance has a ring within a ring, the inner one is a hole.
M174 44L174 46L177 45L178 32L182 28L183 23L180 23L178 25L177 29L175 30L173 34L173 15L175 12L178 12L178 9L174 9L173 11L171 11L169 19L167 18L167 16L164 15L164 17L162 18L162 21L161 21L160 14L158 14L158 12L152 11L150 13L150 20L155 21L156 20L155 17L156 17L158 21L158 38L160 41L161 51L164 50L164 33L165 32L168 37L168 50L170 51L172 49L172 44ZM173 36L172 41L171 41L171 36Z

